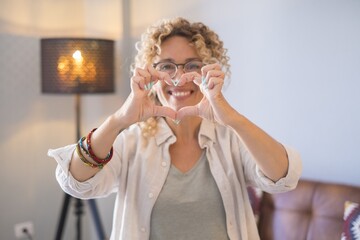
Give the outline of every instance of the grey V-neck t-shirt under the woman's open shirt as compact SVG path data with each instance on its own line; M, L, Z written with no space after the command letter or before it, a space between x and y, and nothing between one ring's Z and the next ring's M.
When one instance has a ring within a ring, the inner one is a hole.
M171 166L150 225L150 240L229 239L224 205L204 153L186 173Z

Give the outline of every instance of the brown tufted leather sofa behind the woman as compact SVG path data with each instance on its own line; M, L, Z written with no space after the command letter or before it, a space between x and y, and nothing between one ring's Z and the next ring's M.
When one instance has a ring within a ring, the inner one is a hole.
M340 240L346 201L360 203L360 187L300 180L293 191L263 193L262 240Z

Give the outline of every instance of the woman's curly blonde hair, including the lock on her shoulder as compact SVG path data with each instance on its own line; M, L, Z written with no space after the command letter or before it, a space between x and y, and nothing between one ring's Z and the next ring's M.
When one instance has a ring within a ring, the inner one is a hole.
M203 23L191 23L181 17L162 19L150 26L141 35L141 40L135 45L137 54L135 62L131 65L131 71L134 72L135 68L143 68L146 64L153 63L154 58L161 53L161 44L173 36L181 36L188 39L195 47L203 63L219 63L226 76L230 77L231 72L227 49L224 48L219 36ZM154 97L154 101L160 104L155 95L152 97ZM157 121L155 118L141 122L139 126L146 140L157 131Z

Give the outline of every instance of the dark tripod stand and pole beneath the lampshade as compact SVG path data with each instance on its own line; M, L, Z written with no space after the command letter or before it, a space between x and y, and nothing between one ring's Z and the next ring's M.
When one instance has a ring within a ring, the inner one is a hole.
M76 141L78 141L81 137L80 134L80 94L77 93L75 94L75 113L76 113ZM76 239L77 240L81 240L81 217L83 212L83 200L78 199L78 198L74 198L72 196L70 196L69 194L65 193L64 196L64 200L63 200L63 206L62 206L62 210L61 210L61 215L60 215L60 219L59 219L59 223L58 223L58 228L56 231L56 236L55 239L56 240L61 240L62 237L62 233L63 233L63 229L64 229L64 225L65 225L65 221L66 221L66 215L69 209L69 204L71 199L74 199L75 202L75 215L76 215ZM104 231L104 227L101 223L100 220L100 215L99 215L99 211L97 209L96 206L96 202L95 199L89 199L87 200L90 210L91 210L91 214L94 220L94 224L95 224L95 229L98 235L99 240L105 240L105 231Z

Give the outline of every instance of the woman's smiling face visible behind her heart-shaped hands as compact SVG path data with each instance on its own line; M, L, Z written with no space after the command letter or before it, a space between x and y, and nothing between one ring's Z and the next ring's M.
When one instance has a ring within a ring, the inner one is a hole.
M161 54L155 58L155 63L172 62L184 64L191 60L201 60L196 53L195 47L189 41L180 36L170 37L161 44ZM184 74L183 65L178 67L172 80L178 80ZM182 86L168 85L161 82L155 85L157 96L163 106L171 107L175 111L184 106L193 106L203 98L199 87L188 82Z

